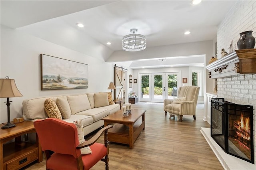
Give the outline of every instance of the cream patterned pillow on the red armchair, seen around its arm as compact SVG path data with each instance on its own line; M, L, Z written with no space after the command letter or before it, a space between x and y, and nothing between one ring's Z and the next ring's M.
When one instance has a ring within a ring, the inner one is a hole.
M82 120L78 120L78 121L74 121L73 122L76 125L77 128L77 133L78 133L78 139L79 139L79 143L82 144L85 142L84 140L84 128L82 125ZM81 154L92 154L92 150L89 146L85 147L85 148L81 148Z

